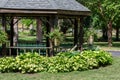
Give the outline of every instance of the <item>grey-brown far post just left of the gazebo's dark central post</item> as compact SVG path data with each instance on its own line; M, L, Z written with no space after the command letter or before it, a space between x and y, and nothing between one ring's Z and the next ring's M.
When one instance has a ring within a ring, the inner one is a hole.
M36 23L37 23L37 43L41 43L42 42L42 21L40 20L40 18L36 19Z

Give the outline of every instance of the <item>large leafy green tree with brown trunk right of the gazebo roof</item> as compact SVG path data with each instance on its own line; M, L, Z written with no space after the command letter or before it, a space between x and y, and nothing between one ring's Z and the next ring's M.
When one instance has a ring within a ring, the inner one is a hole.
M92 11L92 18L99 16L99 23L103 22L108 31L108 45L112 46L112 25L120 13L118 0L78 0ZM94 21L94 20L93 20Z

